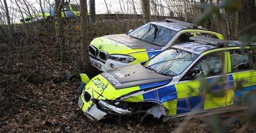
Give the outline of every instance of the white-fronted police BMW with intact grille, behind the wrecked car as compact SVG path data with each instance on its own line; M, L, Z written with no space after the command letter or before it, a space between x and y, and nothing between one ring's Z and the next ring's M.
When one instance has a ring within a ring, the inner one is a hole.
M167 18L147 23L128 34L105 35L92 40L91 65L102 72L145 62L173 44L189 41L191 36L198 35L224 39L223 35L195 24Z

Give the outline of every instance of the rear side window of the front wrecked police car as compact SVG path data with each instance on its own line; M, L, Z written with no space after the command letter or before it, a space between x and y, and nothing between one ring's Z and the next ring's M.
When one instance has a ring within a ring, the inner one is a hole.
M246 71L255 65L255 52L253 51L230 51L231 72Z

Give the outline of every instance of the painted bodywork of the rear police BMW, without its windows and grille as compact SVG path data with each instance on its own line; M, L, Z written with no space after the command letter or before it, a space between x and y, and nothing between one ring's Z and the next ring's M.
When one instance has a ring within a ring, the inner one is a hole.
M170 23L167 21L152 21L150 24L156 24L166 28L170 28L174 31L177 31L178 33L174 35L170 42L167 43L167 45L164 47L152 45L150 43L131 38L130 36L125 34L106 35L96 38L91 42L91 46L95 47L97 50L104 51L109 55L129 55L135 58L135 60L131 63L122 63L110 59L103 61L99 56L94 56L90 53L90 60L100 64L101 66L101 68L95 69L99 71L107 71L113 68L119 68L126 65L148 61L150 60L150 58L156 56L161 51L175 45L174 42L176 42L179 36L186 32L193 33L194 36L197 36L196 33L214 34L215 36L217 36L218 39L224 39L223 35L219 33L208 31L205 29L196 29L178 23ZM111 65L114 67L111 67Z

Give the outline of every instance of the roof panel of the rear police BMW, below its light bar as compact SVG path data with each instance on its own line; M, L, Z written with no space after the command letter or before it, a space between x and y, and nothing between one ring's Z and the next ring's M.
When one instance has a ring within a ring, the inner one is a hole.
M192 26L186 26L179 23L175 23L175 22L169 22L169 21L152 21L151 24L170 28L174 31L180 31L181 29L186 29L186 28L193 28Z

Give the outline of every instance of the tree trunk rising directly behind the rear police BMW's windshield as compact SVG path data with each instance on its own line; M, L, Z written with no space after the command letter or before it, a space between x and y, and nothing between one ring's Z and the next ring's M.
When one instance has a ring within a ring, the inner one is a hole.
M144 23L150 22L151 21L150 0L142 0L142 10L143 10Z

